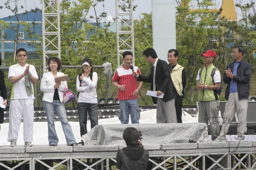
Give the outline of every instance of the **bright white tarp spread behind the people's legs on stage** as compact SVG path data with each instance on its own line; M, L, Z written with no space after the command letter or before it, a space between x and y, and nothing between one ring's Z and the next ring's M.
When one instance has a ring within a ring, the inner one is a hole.
M198 122L198 118L193 118L188 113L184 112L182 114L182 121L184 123L192 123L192 122ZM148 110L148 111L142 111L140 112L140 123L156 123L156 109L154 110ZM131 123L131 120L129 120L129 123ZM80 137L80 127L79 122L69 122L69 124L72 127L72 131L74 133L75 139L77 142L81 141ZM99 124L121 124L118 117L114 118L106 118L106 119L99 119ZM90 131L90 121L87 122L87 130ZM61 144L67 144L65 141L65 135L63 133L61 123L60 121L55 122L55 129L57 131L57 135L59 138L59 145ZM3 123L1 124L1 130L0 130L0 146L4 145L10 145L10 142L7 141L8 137L8 130L9 130L9 123ZM33 144L34 145L48 145L48 126L47 122L34 122L34 128L33 128ZM24 145L23 141L23 123L20 124L19 129L19 137L17 141L17 145Z

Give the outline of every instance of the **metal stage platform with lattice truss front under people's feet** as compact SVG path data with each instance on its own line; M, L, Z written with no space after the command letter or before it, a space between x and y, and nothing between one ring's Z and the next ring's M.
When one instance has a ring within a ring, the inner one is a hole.
M116 170L118 149L126 145L0 147L0 169ZM147 169L256 169L256 142L144 145Z

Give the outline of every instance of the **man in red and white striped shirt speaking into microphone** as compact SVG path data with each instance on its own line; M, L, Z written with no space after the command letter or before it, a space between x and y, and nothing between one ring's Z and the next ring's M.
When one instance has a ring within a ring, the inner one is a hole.
M132 76L131 63L132 52L125 51L123 53L123 66L116 69L112 78L112 85L118 88L117 99L119 100L118 118L122 124L129 123L129 114L131 114L132 123L139 123L139 90L143 82L139 82L137 87L137 79ZM135 72L140 74L140 69L133 66ZM117 83L118 82L118 83Z

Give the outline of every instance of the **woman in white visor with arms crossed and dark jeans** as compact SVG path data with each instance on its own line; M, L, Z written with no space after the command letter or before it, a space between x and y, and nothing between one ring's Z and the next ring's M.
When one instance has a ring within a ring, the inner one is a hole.
M76 90L79 92L77 109L81 137L82 135L87 134L87 111L91 122L91 129L98 124L98 102L96 92L98 75L97 72L93 71L92 61L90 59L83 59L82 74L78 75L76 78Z

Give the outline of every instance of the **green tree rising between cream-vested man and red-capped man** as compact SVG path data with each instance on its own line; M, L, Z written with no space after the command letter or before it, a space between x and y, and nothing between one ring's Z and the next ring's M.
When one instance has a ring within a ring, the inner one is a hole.
M211 0L196 2L198 9L194 11L190 10L187 5L181 5L187 4L183 1L178 1L180 5L176 7L177 49L180 52L180 63L187 71L185 94L191 89L191 101L193 101L196 85L195 78L202 65L201 54L206 51L209 39L215 33L213 28L217 24L215 20L219 14L208 12L208 7L214 5Z

